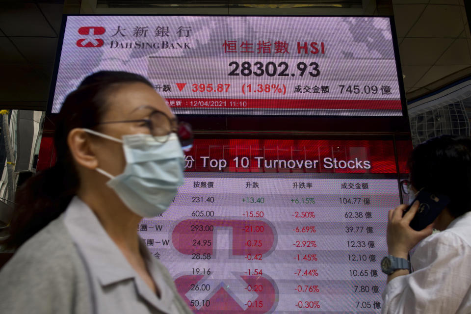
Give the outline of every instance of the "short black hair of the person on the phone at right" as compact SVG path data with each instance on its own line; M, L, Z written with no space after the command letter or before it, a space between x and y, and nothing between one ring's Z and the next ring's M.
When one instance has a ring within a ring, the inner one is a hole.
M471 138L441 135L418 145L409 158L411 184L450 198L453 217L471 210Z

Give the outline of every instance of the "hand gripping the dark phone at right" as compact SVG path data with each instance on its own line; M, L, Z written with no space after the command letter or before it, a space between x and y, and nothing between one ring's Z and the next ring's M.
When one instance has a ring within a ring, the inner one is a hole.
M390 255L407 259L409 251L416 246L420 240L432 234L433 223L421 231L416 231L409 226L419 209L416 201L411 209L402 216L407 205L399 205L388 213L388 252Z

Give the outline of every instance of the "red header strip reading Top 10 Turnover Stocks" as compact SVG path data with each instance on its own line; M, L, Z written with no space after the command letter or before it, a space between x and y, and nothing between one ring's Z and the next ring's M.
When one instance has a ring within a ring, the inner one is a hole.
M197 139L185 171L395 174L396 165L392 140Z

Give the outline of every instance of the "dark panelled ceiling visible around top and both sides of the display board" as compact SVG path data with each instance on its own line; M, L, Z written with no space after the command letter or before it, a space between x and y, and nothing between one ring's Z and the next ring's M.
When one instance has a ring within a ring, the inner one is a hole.
M363 9L299 8L301 11L295 12L297 8L285 6L245 8L245 13L239 14L387 15L393 11L406 98L412 100L471 74L471 35L463 1L392 0L385 5L388 1L363 0ZM1 108L45 108L62 13L156 13L142 8L97 8L96 0L61 2L0 3ZM177 12L168 8L166 13L168 10Z

